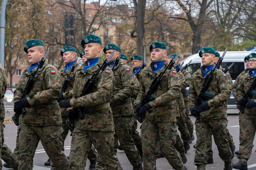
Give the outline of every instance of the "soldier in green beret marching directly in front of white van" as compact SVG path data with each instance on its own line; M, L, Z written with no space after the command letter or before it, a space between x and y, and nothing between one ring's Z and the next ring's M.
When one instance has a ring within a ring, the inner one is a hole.
M225 102L228 101L231 94L231 83L227 76L220 70L213 71L213 78L207 88L208 93L211 92L215 96L207 97L208 101L204 101L197 106L197 98L202 90L202 86L206 77L214 68L213 61L215 59L215 50L211 47L204 47L200 50L199 56L202 58L203 66L198 69L191 78L189 87L189 107L190 112L195 116L196 122L196 154L194 164L198 170L205 170L206 154L207 154L207 136L210 131L213 133L214 142L219 150L220 158L225 162L224 170L231 170L233 162L231 160L231 149L227 134L227 112Z

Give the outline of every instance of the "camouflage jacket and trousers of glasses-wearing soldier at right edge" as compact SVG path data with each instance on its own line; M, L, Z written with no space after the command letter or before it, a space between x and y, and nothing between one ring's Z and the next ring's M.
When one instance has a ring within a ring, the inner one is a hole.
M239 101L243 95L247 92L250 88L252 82L256 78L256 75L253 75L251 78L251 70L241 76L239 84L237 86L237 101ZM255 88L256 89L256 88ZM254 90L255 90L254 89ZM250 98L251 101L255 101L254 98ZM252 109L246 109L244 107L244 112L240 113L240 135L239 135L239 156L237 157L239 161L244 161L247 163L249 158L252 154L252 147L253 147L253 139L255 137L255 123L256 123L256 107Z

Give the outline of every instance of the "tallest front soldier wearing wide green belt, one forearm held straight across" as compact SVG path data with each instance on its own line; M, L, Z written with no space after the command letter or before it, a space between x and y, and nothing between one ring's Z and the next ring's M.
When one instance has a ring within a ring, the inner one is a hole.
M122 166L114 154L114 122L109 104L114 75L109 67L102 70L89 93L80 97L84 85L98 70L98 64L103 64L99 57L102 49L100 37L87 35L82 39L81 46L84 47L87 61L76 69L72 99L60 102L61 107L81 108L81 113L84 115L84 118L80 119L73 109L68 113L69 118L76 119L75 129L72 132L69 170L84 170L92 144L107 169L120 170Z

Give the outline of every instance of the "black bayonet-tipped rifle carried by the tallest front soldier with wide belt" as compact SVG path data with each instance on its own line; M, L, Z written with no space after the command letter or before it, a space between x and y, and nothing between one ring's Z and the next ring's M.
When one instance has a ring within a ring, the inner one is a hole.
M87 95L89 93L89 90L92 89L93 84L95 84L97 76L100 74L101 71L105 70L106 67L109 65L109 63L110 63L109 61L113 57L114 52L115 52L115 50L111 53L111 55L109 56L108 59L107 58L105 59L105 61L103 62L102 65L98 64L99 68L97 69L96 72L93 73L93 76L91 78L89 78L88 81L86 82L86 84L84 85L84 88L82 89L82 93L80 94L80 97L82 97L84 95ZM84 110L84 108L75 107L75 108L73 108L73 110L78 113L79 119L84 118L84 115L81 111L81 110ZM68 118L68 120L66 120L66 124L67 124L67 126L68 126L68 128L71 132L75 128L75 123L74 122L75 122L75 120L71 119L71 118Z

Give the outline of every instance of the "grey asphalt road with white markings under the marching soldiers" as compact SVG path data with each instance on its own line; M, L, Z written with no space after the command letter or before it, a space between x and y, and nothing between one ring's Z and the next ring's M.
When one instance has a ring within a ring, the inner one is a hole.
M231 133L231 135L233 136L233 140L235 142L236 145L236 150L239 149L239 123L238 123L238 111L237 109L230 109L228 110L228 113L232 113L232 114L228 114L228 130ZM193 116L190 116L193 123L195 122L195 118ZM140 123L138 123L138 131L140 127ZM10 147L10 149L14 150L15 148L15 141L16 141L16 129L17 126L14 123L5 123L5 129L4 129L4 143L7 144L7 146ZM196 137L196 132L194 131L194 135ZM70 142L71 142L71 137L68 135L64 144L64 148L65 148L65 154L69 155L69 151L70 151ZM255 140L254 140L255 142ZM196 143L196 140L193 141L193 143L190 144L190 150L187 152L186 157L187 157L187 163L185 164L187 166L187 168L189 170L196 170L196 166L193 164L194 162L194 156L195 156L195 149L193 148L193 145ZM224 169L224 162L219 158L218 155L218 150L217 147L215 145L215 143L213 143L213 164L209 164L206 165L206 169L207 170L220 170L220 169ZM252 156L248 161L248 169L250 170L256 170L256 152L255 152L255 147L252 149ZM117 153L118 159L121 162L121 165L123 167L124 170L131 170L132 166L130 164L130 162L128 161L125 153L123 151L118 150ZM48 156L47 154L44 152L43 146L41 145L41 143L38 144L37 147L37 151L36 154L34 156L34 169L50 169L49 166L44 166L44 162L48 160ZM234 157L233 159L234 163L238 162L237 156ZM86 166L86 170L89 168L89 160L87 160L87 166ZM159 158L157 159L157 169L161 169L161 170L170 170L172 169L172 167L170 166L170 164L167 162L167 160L163 157L163 158ZM7 168L3 167L3 170L7 170Z

